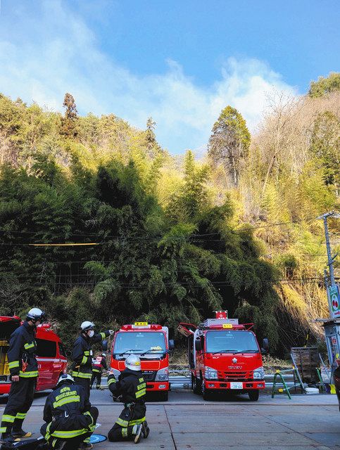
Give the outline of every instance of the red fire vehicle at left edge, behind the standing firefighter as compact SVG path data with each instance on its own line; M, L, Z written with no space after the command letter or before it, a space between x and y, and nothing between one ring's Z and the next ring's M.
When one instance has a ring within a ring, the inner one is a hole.
M9 338L21 324L18 316L0 316L0 395L8 394L11 388L7 351ZM61 339L50 329L48 323L37 327L37 362L39 377L37 391L56 386L61 373L65 373L67 357Z

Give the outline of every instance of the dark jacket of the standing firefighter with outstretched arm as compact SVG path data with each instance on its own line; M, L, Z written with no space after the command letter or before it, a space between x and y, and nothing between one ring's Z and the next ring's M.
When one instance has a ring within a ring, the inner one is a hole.
M103 339L110 335L109 330L103 333L95 333L92 338L82 333L73 346L72 359L73 359L73 376L79 378L92 378L92 344L101 342Z

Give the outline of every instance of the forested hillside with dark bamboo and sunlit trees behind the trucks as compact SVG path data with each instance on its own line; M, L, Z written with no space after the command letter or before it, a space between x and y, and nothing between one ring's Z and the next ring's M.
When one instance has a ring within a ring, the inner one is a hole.
M339 208L339 80L270 98L253 134L226 106L200 160L161 148L151 118L139 130L81 117L70 94L63 115L0 95L1 314L42 307L70 342L86 319L175 330L227 309L276 354L309 329L315 340L317 217ZM340 221L329 227L340 251Z

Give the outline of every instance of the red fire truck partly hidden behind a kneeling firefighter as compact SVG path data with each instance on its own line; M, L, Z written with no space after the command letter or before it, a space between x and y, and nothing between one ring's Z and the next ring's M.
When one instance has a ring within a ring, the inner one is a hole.
M168 400L169 351L174 341L169 340L166 326L135 322L123 325L115 333L111 353L111 370L118 379L125 369L125 359L130 354L137 354L141 359L141 371L146 380L146 390L158 393L158 398Z

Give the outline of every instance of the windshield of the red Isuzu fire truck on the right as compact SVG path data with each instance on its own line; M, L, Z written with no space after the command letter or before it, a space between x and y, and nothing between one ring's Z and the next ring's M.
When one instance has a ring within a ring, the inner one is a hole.
M206 333L207 353L259 352L256 338L250 331L216 330Z

